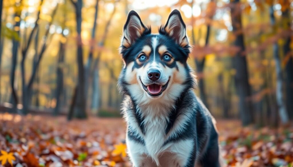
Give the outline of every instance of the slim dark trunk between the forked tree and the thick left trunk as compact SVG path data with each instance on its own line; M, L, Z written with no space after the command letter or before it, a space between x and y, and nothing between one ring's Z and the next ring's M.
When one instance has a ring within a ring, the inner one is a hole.
M60 42L59 47L59 55L58 55L58 63L57 63L57 88L56 88L56 106L54 109L54 116L59 115L60 107L63 101L61 101L61 95L63 92L63 63L64 63L64 57L65 57L65 44Z

